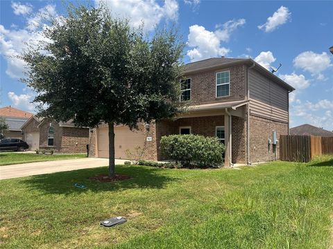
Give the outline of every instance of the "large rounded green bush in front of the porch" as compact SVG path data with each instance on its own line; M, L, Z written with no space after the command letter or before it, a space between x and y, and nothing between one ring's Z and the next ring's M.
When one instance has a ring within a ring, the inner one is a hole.
M163 136L161 149L164 156L183 167L216 167L223 162L225 151L216 138L193 134Z

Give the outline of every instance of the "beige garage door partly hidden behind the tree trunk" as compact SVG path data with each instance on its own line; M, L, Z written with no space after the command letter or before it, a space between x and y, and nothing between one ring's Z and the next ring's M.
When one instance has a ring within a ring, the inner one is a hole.
M98 149L99 157L109 157L108 128L99 128ZM135 147L144 147L146 135L144 131L130 131L128 127L114 127L114 154L115 158L128 159L126 150L133 150Z

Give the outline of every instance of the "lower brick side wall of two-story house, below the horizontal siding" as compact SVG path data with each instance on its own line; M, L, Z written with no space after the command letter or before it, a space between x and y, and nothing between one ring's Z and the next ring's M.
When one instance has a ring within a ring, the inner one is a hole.
M268 138L272 139L273 131L277 131L277 138L279 139L280 135L288 134L288 124L250 116L251 163L275 160L275 151L276 159L280 158L279 142L276 148L274 148L274 145L268 147Z

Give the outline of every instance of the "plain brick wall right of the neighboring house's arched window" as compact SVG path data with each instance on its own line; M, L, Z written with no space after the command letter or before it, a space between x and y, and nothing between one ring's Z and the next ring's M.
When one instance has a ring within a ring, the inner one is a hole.
M89 129L62 127L61 152L86 153L89 142Z

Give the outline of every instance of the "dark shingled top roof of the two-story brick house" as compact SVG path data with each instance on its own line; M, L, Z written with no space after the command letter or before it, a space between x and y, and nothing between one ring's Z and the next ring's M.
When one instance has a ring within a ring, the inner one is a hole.
M268 77L269 79L273 80L273 82L278 83L280 86L284 87L285 89L288 89L289 91L294 91L295 89L293 86L287 84L287 82L284 82L284 80L281 80L280 77L274 75L270 71L268 71L266 68L264 68L262 65L255 62L253 59L247 58L247 59L236 59L236 58L210 58L210 59L203 59L198 62L191 62L189 64L185 64L185 75L189 73L197 73L200 71L207 71L210 69L219 68L221 66L234 66L239 64L246 64L248 66L253 66L253 70L258 71L262 75Z

